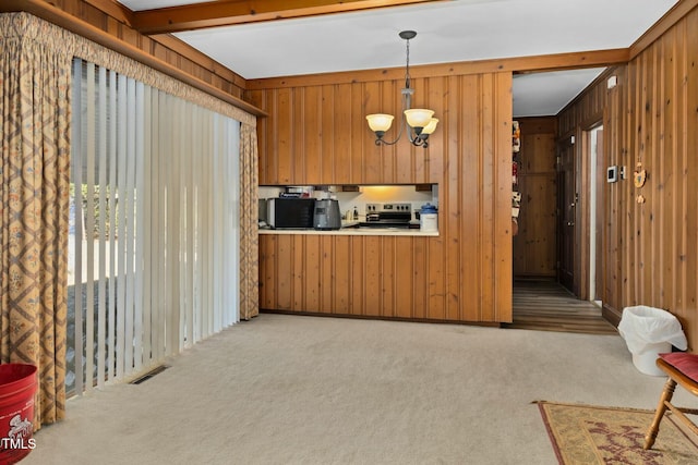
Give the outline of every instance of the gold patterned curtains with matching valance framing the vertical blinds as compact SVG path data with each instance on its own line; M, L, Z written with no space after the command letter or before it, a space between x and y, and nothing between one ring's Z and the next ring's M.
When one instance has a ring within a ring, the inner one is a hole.
M241 122L240 317L258 313L256 118L28 13L0 14L0 362L38 366L36 429L65 415L74 57Z

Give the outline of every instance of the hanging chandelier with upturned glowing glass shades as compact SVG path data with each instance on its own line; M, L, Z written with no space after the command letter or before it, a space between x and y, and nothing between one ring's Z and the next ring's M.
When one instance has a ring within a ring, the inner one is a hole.
M417 36L414 30L402 30L399 34L400 38L405 39L407 45L407 64L405 68L405 88L402 94L402 120L400 130L397 134L397 138L393 142L388 142L383 138L386 132L393 124L392 114L375 113L369 114L366 120L369 121L369 127L375 133L375 145L394 145L402 136L405 126L407 126L407 136L414 146L429 147L429 135L434 132L438 120L433 118L434 112L424 108L411 108L412 94L414 89L410 87L410 39Z

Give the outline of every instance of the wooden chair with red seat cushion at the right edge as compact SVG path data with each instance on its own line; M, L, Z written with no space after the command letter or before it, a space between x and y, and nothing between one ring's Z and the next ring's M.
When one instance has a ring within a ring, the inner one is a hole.
M673 352L671 354L660 354L657 359L657 366L669 376L664 384L664 391L659 399L657 413L645 437L645 449L651 449L659 432L659 424L664 417L664 413L669 408L676 418L685 424L695 435L698 435L698 426L685 414L698 415L696 408L677 407L672 404L674 389L676 384L683 387L686 391L698 396L698 355L685 352Z

